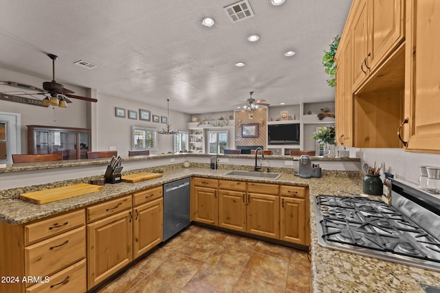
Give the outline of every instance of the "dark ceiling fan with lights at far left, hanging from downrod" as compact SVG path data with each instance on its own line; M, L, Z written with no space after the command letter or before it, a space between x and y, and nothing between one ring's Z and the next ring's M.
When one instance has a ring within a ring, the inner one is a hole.
M83 97L80 95L73 95L74 91L66 89L63 84L55 81L55 60L58 56L54 54L47 54L52 59L52 81L43 82L43 89L28 84L21 84L19 82L0 82L0 99L19 102L24 104L34 104L36 106L59 106L67 108L67 103L72 103L68 98L83 99L89 102L98 102L98 99L91 97ZM12 91L4 89L3 86L12 86L21 89L21 91ZM28 95L30 97L25 97ZM43 99L39 99L37 95L44 95Z

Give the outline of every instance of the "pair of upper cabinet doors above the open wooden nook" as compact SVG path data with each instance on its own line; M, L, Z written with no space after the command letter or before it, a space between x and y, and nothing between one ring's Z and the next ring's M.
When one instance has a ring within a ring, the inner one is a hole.
M356 89L405 38L404 0L354 1L352 82Z

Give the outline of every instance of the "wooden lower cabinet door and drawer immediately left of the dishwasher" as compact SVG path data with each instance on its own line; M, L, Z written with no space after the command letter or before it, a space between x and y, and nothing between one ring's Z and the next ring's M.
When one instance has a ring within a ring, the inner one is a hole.
M164 199L162 186L133 194L133 259L157 244L164 234ZM135 202L142 202L137 205Z

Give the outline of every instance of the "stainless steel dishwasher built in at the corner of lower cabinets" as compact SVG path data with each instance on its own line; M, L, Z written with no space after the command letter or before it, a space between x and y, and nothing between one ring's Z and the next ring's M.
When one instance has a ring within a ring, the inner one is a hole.
M190 178L164 184L164 241L190 224Z

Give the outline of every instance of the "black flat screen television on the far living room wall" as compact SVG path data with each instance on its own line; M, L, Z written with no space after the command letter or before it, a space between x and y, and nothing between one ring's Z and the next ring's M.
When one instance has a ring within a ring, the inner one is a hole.
M300 144L300 124L269 124L267 132L270 145Z

